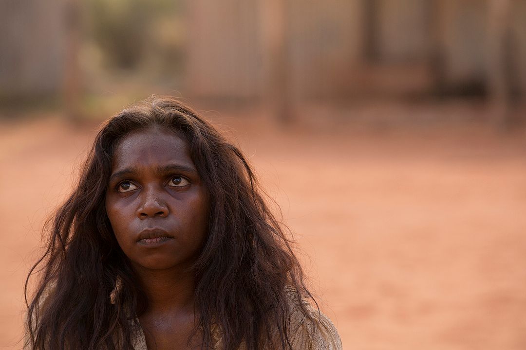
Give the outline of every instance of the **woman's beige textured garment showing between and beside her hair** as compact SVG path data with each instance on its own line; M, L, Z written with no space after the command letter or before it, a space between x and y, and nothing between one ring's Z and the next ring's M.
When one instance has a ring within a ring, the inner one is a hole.
M303 303L309 314L314 320L318 321L317 324L312 324L307 317L300 311L298 301L293 302L294 311L292 312L291 324L290 324L290 343L294 350L342 350L340 336L334 324L332 324L329 318L318 313L317 309L314 309L306 300L300 301ZM137 323L138 324L138 323ZM220 335L215 332L214 339L216 344L214 350L222 350L223 342ZM139 327L138 337L134 344L135 350L148 350L146 347L146 339L142 328ZM245 346L241 344L239 350L244 350Z

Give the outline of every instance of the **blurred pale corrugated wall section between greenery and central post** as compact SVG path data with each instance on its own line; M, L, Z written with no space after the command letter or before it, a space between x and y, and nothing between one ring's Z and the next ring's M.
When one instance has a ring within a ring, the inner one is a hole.
M253 98L262 89L262 56L255 0L187 3L188 93Z

